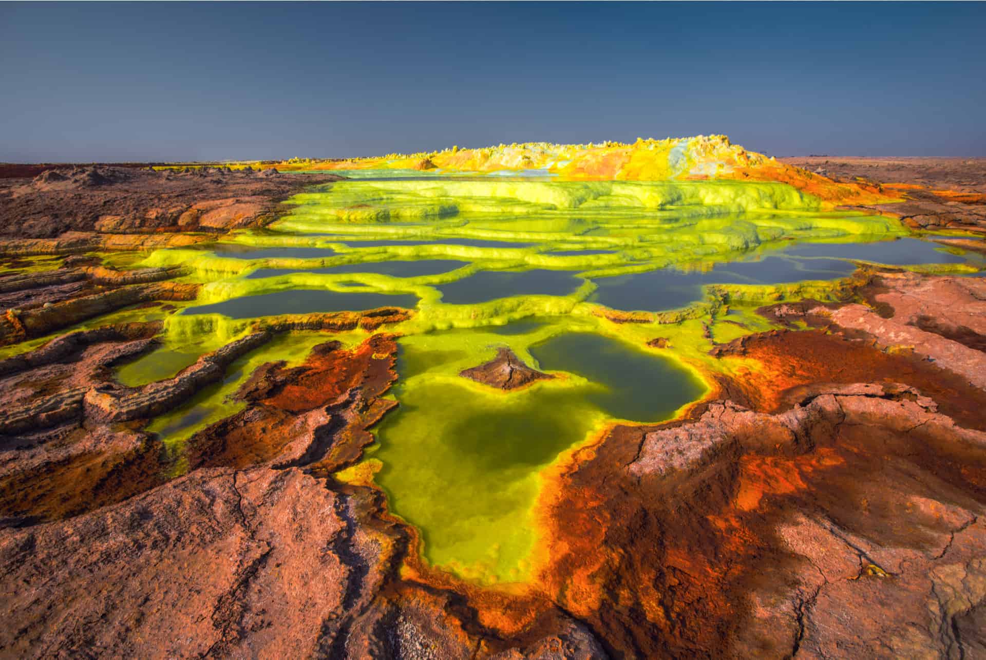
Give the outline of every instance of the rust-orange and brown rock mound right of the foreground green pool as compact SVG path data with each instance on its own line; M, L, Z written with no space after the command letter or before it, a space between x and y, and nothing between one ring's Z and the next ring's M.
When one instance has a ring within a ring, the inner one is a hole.
M986 436L910 396L849 386L778 415L716 402L694 421L614 429L548 491L543 588L617 657L947 647L935 630L955 615L922 611L934 598L924 576L944 556L978 565L986 528L969 525L986 470L968 467L986 465ZM942 488L961 504L934 504ZM848 620L834 596L847 580L868 594ZM912 593L888 608L898 585ZM897 608L930 632L901 643Z

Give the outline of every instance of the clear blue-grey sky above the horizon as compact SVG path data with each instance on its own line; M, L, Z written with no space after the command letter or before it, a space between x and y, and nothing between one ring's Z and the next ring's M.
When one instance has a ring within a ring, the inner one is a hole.
M0 161L986 156L986 3L0 3Z

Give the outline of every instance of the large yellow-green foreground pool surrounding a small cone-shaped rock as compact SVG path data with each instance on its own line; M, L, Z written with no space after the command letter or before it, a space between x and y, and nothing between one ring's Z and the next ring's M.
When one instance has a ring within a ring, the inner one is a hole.
M586 332L532 346L535 366L564 373L528 389L505 393L458 376L492 358L497 345L523 355L527 341L543 333L402 338L394 392L400 405L377 429L376 479L391 510L420 530L429 562L480 582L525 577L539 474L561 452L608 419L667 419L705 392L673 360Z

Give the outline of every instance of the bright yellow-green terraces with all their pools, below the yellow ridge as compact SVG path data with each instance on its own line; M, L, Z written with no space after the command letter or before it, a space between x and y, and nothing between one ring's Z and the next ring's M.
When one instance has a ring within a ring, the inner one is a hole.
M372 480L418 530L426 564L484 584L523 581L536 563L545 469L608 424L666 420L700 400L709 374L733 368L709 357L712 342L770 328L757 306L834 298L856 260L976 270L895 220L822 211L782 183L403 173L315 186L264 230L223 241L106 257L180 264L184 281L201 284L176 309L116 313L165 322L161 347L119 367L119 380L172 377L258 320L413 310L383 330L400 336L388 395L400 404L337 478ZM320 342L367 335L282 333L147 430L179 473L185 441L242 408L232 395L257 366L299 364ZM500 346L555 377L504 392L458 376Z

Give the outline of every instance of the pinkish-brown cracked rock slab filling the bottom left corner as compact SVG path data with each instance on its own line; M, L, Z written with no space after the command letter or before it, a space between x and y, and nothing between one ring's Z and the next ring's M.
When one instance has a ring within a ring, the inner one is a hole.
M347 508L346 496L299 470L214 469L106 511L10 531L0 537L10 623L0 648L311 655L363 588L344 552L376 559L369 540L353 538Z

